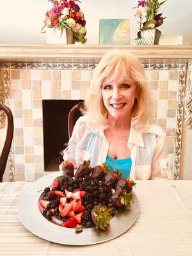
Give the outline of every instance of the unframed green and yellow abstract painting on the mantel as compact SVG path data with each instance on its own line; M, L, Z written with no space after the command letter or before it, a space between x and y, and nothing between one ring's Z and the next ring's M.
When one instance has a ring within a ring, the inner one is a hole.
M130 45L130 20L100 19L99 44Z

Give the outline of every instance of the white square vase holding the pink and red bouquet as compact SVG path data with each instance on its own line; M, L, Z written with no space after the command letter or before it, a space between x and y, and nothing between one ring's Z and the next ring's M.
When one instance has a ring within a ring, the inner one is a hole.
M76 40L73 36L72 29L63 29L61 35L61 29L47 28L46 29L47 44L75 44Z

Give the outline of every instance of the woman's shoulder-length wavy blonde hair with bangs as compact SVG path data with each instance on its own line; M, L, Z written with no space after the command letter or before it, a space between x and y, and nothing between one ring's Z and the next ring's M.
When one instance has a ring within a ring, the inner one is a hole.
M88 116L88 125L92 129L105 129L108 126L108 111L104 106L101 88L106 78L112 81L116 77L127 77L127 74L136 82L138 97L132 107L132 125L140 128L150 120L152 100L148 89L148 79L141 63L133 54L125 50L107 52L100 60L93 72L90 91L84 100L83 115Z

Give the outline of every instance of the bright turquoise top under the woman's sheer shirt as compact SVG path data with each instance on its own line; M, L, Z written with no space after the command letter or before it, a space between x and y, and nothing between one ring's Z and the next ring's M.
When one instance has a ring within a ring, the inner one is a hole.
M113 170L114 168L118 169L119 172L123 174L122 178L129 177L131 172L131 164L132 164L131 157L125 158L125 159L114 159L110 156L107 156L106 164L108 164L111 170Z

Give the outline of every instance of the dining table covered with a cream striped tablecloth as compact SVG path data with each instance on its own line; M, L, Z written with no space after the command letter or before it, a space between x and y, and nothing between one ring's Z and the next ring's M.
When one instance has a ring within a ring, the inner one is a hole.
M52 243L30 232L17 205L32 182L1 182L0 255L191 256L192 180L135 182L139 214L132 227L110 241L82 246Z

